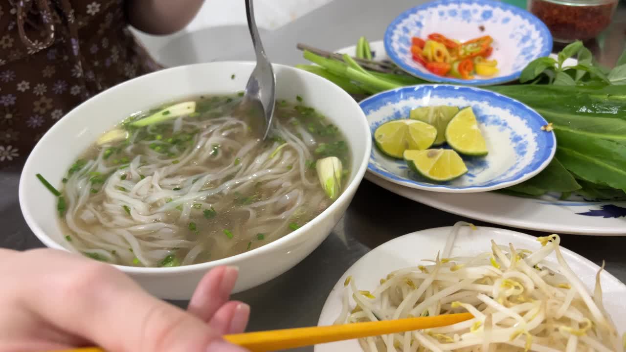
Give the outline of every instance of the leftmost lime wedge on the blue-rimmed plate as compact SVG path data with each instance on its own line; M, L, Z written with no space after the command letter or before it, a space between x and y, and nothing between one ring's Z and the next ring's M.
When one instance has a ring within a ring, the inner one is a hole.
M418 120L394 120L383 123L374 131L376 147L394 158L402 158L407 149L429 148L435 138L437 129Z

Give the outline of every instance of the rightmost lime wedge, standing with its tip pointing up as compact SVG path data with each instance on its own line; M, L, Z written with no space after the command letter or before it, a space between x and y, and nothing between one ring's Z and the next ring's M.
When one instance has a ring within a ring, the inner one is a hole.
M483 133L478 128L476 116L471 107L459 111L446 127L446 142L464 155L487 155L487 145Z

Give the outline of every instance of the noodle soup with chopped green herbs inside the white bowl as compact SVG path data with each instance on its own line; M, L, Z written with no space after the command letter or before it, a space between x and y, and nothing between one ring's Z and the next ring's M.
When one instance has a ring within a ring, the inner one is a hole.
M69 244L126 266L188 265L263 246L326 209L349 169L341 132L282 101L262 141L239 99L200 96L102 135L63 180Z

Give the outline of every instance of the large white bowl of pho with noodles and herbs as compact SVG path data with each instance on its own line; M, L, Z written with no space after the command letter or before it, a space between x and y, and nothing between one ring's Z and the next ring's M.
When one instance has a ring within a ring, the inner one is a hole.
M170 68L70 111L21 175L31 230L165 299L189 299L211 267L239 267L239 292L295 266L351 202L371 135L347 93L275 65L274 125L262 140L262 118L239 104L253 68Z

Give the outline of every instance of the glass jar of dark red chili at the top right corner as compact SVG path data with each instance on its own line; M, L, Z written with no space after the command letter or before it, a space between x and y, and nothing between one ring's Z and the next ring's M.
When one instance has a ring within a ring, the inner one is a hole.
M607 29L618 0L528 0L528 11L546 24L554 41L571 43Z

